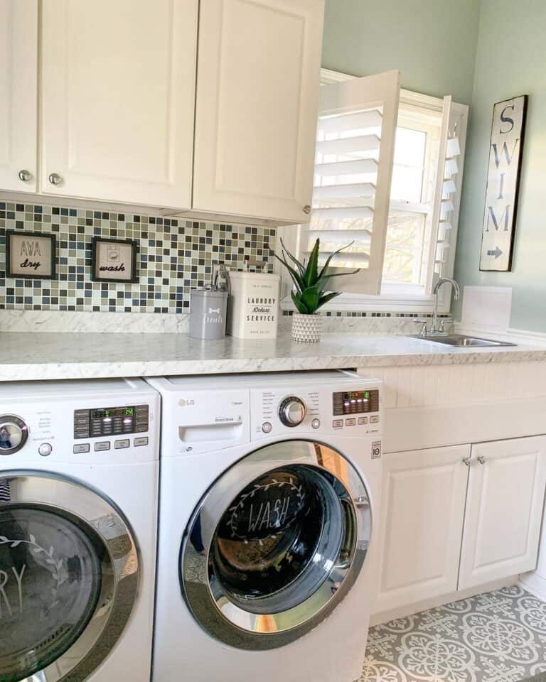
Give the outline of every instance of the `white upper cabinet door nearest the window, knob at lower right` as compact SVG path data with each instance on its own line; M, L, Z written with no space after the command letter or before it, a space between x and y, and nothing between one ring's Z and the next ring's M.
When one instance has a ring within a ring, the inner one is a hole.
M309 220L323 0L201 0L193 207Z

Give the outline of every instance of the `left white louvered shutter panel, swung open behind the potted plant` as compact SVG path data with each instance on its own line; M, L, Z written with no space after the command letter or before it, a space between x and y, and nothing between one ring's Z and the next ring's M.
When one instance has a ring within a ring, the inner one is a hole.
M313 206L300 255L317 237L321 261L333 257L336 291L379 294L389 214L400 73L388 71L321 87ZM335 285L334 285L335 282Z

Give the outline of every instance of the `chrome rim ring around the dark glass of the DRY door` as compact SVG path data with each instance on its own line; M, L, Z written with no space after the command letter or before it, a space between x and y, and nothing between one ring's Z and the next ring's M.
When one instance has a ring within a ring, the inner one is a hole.
M40 481L38 491L24 494L18 483L33 478ZM105 548L100 595L92 616L80 637L58 659L19 682L83 682L90 677L117 644L131 615L139 585L139 552L129 524L112 500L77 479L38 470L0 471L0 480L10 483L11 499L0 501L0 511L11 504L36 504L53 514L72 516L87 526ZM80 509L63 506L63 499L73 499L77 488ZM70 494L71 493L71 494ZM104 521L105 528L100 525ZM60 672L63 671L63 672Z

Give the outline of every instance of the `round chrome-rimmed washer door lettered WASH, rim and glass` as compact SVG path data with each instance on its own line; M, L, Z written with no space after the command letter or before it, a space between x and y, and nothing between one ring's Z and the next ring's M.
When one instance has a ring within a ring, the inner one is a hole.
M301 440L268 445L196 509L181 551L183 594L223 642L282 646L341 601L370 530L365 485L340 453Z

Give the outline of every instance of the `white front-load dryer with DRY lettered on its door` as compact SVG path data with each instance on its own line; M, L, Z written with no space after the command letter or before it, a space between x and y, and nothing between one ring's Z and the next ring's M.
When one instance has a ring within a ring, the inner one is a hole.
M0 682L148 682L159 395L0 384Z

